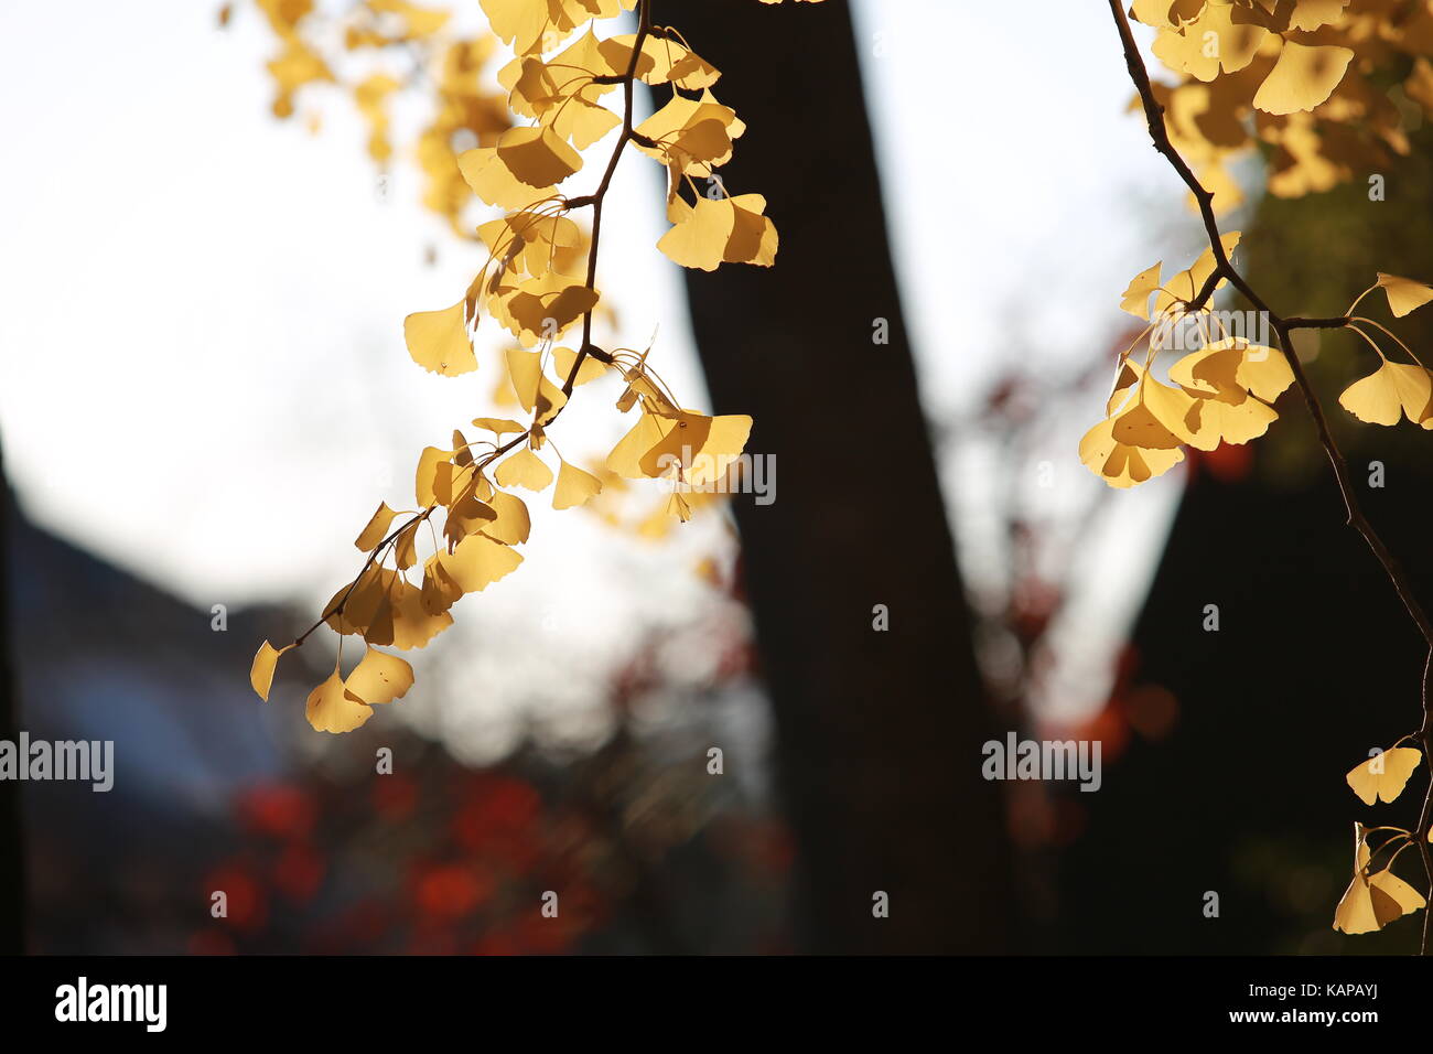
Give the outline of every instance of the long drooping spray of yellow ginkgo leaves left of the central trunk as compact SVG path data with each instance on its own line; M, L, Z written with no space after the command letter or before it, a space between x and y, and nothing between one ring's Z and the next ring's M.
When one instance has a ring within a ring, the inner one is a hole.
M661 518L681 522L715 500L702 488L745 449L751 417L685 407L649 361L651 347L609 351L593 343L593 318L602 310L595 231L628 148L666 171L671 227L656 248L672 261L708 271L722 264L770 267L778 250L765 198L729 194L718 174L745 132L714 92L721 72L678 30L653 23L652 3L481 0L493 37L512 52L496 72L506 93L497 115L490 98L460 96L477 90L496 42L443 44L438 120L450 123L430 130L447 133L444 142L451 143L451 133L463 128L476 142L450 158L424 133L421 163L436 181L428 204L457 225L470 205L499 214L473 231L486 262L466 290L454 291L446 307L410 314L403 337L417 366L461 377L481 369L473 337L487 327L506 344L496 359L494 394L514 417L474 417L473 432L459 429L446 446L426 447L411 508L378 505L355 541L363 566L324 607L320 622L292 644L275 648L265 641L259 648L251 683L267 700L279 658L318 625L360 638L358 665L341 675L340 647L334 673L308 695L308 720L318 730L357 728L374 704L408 690L411 667L380 648L426 647L453 624L451 609L461 597L512 574L523 562L532 529L527 500L550 490L555 509L598 506L615 522L598 502L605 490L620 492L626 480L666 479L684 486L672 488ZM311 13L302 0L287 6L261 0L261 6L274 11L275 32L302 37ZM438 40L447 24L444 13L401 0L365 0L358 9L348 27L350 49ZM603 32L603 22L632 10L639 16L636 33ZM314 76L282 83L292 93ZM638 82L663 99L641 123L631 106ZM380 162L393 153L387 106L400 89L398 80L377 73L354 89L370 120L370 152ZM589 166L585 153L613 132L606 162ZM454 174L461 194L454 192ZM437 186L440 175L446 182ZM576 179L589 181L586 192L567 189ZM562 457L547 432L576 389L603 377L615 383L613 409L632 423L603 463L579 466ZM641 533L658 529L652 521L638 525Z

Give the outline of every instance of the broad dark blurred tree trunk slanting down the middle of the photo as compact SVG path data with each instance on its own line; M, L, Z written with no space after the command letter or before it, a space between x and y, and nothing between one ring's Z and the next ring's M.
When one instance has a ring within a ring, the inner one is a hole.
M737 10L739 7L739 10ZM990 717L916 391L844 0L671 0L749 125L722 178L759 192L774 268L686 272L719 413L749 413L777 500L735 500L798 849L798 946L1009 946ZM873 340L877 320L890 341ZM884 605L890 628L873 628ZM877 892L890 916L873 918Z

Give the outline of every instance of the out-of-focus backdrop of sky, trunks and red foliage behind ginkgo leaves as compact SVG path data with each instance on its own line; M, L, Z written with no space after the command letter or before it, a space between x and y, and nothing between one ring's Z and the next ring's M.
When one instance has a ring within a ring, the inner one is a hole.
M1138 331L1131 275L1205 245L1103 4L665 6L724 70L748 123L724 181L767 196L781 255L681 272L653 250L665 174L625 159L599 343L655 336L685 404L751 413L775 500L675 528L638 488L535 508L522 574L340 737L302 716L331 640L268 704L245 674L353 576L421 447L502 409L492 366L426 374L401 334L483 260L421 143L497 118L434 116L444 54L401 4L304 14L334 49L312 80L277 0L0 10L0 674L13 728L116 756L105 794L0 784L9 932L47 954L1413 949L1407 922L1330 929L1369 816L1343 773L1412 730L1422 658L1297 394L1258 443L1136 490L1076 456ZM474 1L444 32L483 26ZM1386 201L1360 172L1287 199L1258 153L1235 169L1237 264L1285 314L1433 274L1430 133L1399 115ZM1358 373L1344 334L1300 354L1328 406ZM583 396L563 452L599 456L616 389ZM1386 463L1366 502L1427 597L1420 437L1330 416L1356 475ZM1102 789L982 780L1007 731L1101 740Z

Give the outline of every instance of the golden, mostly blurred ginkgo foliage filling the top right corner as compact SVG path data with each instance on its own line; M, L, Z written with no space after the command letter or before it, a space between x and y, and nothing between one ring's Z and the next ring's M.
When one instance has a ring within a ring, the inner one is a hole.
M1327 191L1410 151L1412 108L1433 118L1433 7L1361 0L1132 0L1175 75L1156 86L1171 139L1214 191L1262 146L1268 189ZM1401 100L1389 93L1401 87Z

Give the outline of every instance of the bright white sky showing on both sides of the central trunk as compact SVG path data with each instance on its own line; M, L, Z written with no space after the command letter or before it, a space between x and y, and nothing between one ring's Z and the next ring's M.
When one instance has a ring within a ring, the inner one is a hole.
M401 336L407 313L453 303L480 261L421 211L411 171L380 195L341 99L324 100L318 136L274 120L271 42L244 7L228 32L203 0L155 0L142 16L102 0L0 10L0 439L47 529L203 608L317 605L351 575L348 546L377 502L403 500L418 450L484 410L492 377L426 374ZM1125 113L1108 13L857 0L857 14L930 414L976 403L1002 356L1088 361L1119 324L1128 278L1201 247L1192 222L1148 219L1179 215L1179 192ZM613 191L609 229L628 238L603 242L608 272L625 275L609 295L622 343L659 326L658 367L701 404L679 275L652 248L659 171L642 161L623 161ZM592 413L582 402L567 433L615 439L606 400L588 400ZM1082 430L1052 439L1056 495L1099 486L1075 459ZM967 555L989 528L977 460L944 466ZM1136 571L1118 597L1088 601L1105 612L1092 654L1139 599L1172 476L1121 496L1096 539L1092 559L1119 554ZM573 640L576 625L620 632L702 604L689 576L651 589L631 576L689 565L718 525L675 554L592 561L612 536L576 519L537 521L529 564L484 594L480 622L536 618ZM563 670L613 654L602 630L579 637Z

